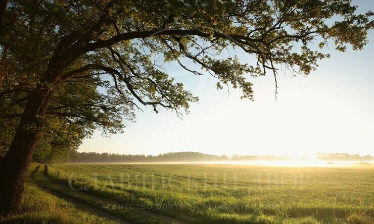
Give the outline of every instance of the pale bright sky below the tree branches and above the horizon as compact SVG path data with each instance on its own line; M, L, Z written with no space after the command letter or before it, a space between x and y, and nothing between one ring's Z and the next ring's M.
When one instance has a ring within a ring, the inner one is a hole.
M357 0L358 12L374 11L374 2ZM179 119L172 111L155 114L151 107L136 114L123 134L85 139L79 152L153 154L196 151L225 155L307 155L341 152L374 155L374 32L361 51L324 52L330 59L307 77L280 72L278 95L274 78L252 78L254 102L240 99L238 89L217 90L216 80L194 76L174 64L164 69L199 96L190 114ZM240 49L242 62L256 61ZM227 54L227 52L224 52ZM223 55L225 56L225 55ZM226 55L227 56L227 55ZM194 66L191 62L187 65Z

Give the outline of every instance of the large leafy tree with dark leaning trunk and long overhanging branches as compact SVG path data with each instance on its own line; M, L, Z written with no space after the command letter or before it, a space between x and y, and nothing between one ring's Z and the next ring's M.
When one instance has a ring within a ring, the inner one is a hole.
M309 74L329 57L320 50L329 40L340 51L347 44L361 49L373 14L355 11L347 0L0 0L1 116L19 119L0 161L0 213L19 208L25 173L49 115L101 127L111 126L111 118L131 117L141 105L181 115L197 97L155 57L193 75L210 74L218 88L241 88L252 99L247 75L276 78L279 65ZM232 48L257 64L220 55ZM60 86L79 88L72 85L77 82L95 85L100 99L71 94L65 100ZM13 113L16 106L22 113ZM94 110L90 116L88 109Z

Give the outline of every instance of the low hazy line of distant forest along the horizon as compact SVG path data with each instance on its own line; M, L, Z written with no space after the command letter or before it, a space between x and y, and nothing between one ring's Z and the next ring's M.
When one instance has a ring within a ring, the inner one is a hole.
M320 153L317 159L323 161L372 161L371 155L360 156L347 153ZM169 152L159 155L131 155L97 152L76 152L70 162L202 162L202 161L253 161L253 160L308 160L307 157L274 156L274 155L210 155L200 152Z

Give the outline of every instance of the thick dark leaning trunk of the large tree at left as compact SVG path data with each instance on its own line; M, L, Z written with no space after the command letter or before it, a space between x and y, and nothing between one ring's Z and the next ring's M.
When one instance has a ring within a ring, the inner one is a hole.
M48 86L34 90L9 151L0 160L0 215L13 214L20 208L26 172L39 139L40 119L46 113L52 91Z

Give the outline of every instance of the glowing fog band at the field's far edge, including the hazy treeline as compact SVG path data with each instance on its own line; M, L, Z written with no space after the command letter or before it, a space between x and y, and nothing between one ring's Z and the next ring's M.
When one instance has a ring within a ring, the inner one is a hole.
M362 166L374 167L374 157L347 153L319 153L315 156L211 155L200 152L169 152L159 155L131 155L78 152L76 163L209 163L265 166Z

